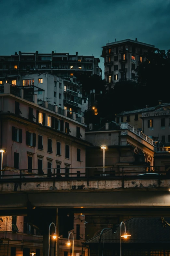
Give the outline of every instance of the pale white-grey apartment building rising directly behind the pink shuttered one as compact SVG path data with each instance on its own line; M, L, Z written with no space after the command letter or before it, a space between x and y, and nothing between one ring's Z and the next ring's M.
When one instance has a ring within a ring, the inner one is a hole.
M88 106L85 107L83 105L82 111L82 104L87 98L82 98L81 84L73 82L72 78L66 79L50 72L27 71L20 74L7 75L5 82L9 82L13 87L16 86L20 89L21 87L38 87L39 89L37 88L34 92L37 94L37 103L39 105L43 101L47 101L49 106L52 104L68 110L70 112L67 113L68 115L75 113L76 118L81 117L84 111L88 109ZM3 84L3 78L0 78L0 83ZM52 109L53 106L51 106Z

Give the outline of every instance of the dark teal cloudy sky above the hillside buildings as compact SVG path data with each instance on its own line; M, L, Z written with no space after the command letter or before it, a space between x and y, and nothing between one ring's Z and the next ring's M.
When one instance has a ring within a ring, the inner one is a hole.
M1 0L0 7L1 55L56 50L99 57L115 38L170 48L170 0Z

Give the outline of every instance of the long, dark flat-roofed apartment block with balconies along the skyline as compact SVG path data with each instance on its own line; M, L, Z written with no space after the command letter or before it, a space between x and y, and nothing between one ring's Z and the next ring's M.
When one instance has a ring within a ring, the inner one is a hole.
M102 76L99 58L94 56L69 55L69 53L21 52L14 55L0 56L0 77L19 74L23 71L50 72L57 76L72 77L77 82L76 74L96 74Z

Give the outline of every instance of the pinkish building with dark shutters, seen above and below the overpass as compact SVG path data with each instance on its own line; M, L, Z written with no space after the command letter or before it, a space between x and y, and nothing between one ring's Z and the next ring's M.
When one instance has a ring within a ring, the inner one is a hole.
M6 149L3 175L22 170L22 174L30 174L32 178L40 175L50 178L52 174L68 178L81 176L85 150L90 145L85 141L84 118L76 118L75 113L68 115L70 111L47 101L39 104L37 91L44 92L44 89L33 85L31 78L21 81L22 87L10 83L0 86L0 144ZM26 81L31 81L30 87L25 86ZM75 216L74 227L79 234L75 235L75 256L82 251L80 239L85 239L84 219L85 216ZM1 256L7 253L42 256L43 237L27 223L26 216L0 217L0 239ZM65 246L66 240L61 236L60 252L64 256L70 250Z

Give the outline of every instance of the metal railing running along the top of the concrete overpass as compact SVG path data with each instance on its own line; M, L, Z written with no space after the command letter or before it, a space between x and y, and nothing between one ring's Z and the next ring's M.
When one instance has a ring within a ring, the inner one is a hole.
M105 168L105 172L104 172ZM0 183L22 181L60 181L60 180L159 180L170 179L166 166L150 166L144 162L136 166L105 166L77 168L13 169L2 170ZM167 184L168 186L168 184ZM156 187L156 186L155 186ZM169 186L168 186L169 187ZM139 187L140 188L140 187ZM154 188L154 186L153 186Z

